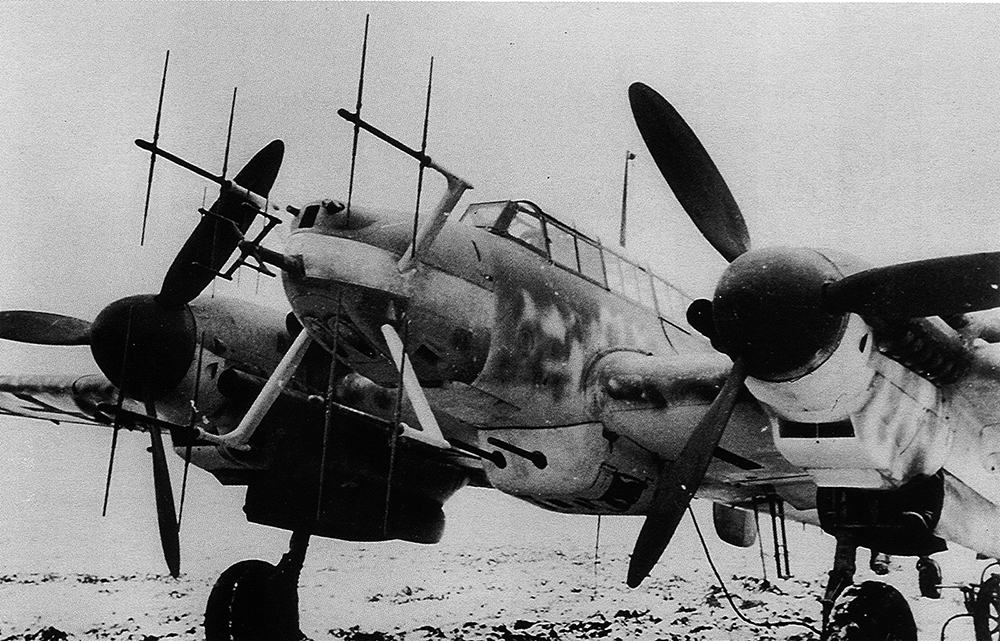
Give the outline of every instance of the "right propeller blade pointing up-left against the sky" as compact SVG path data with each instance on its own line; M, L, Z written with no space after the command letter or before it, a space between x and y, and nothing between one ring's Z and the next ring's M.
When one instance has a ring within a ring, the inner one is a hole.
M739 205L712 158L677 110L654 89L628 89L632 115L678 202L706 240L732 262L750 248Z

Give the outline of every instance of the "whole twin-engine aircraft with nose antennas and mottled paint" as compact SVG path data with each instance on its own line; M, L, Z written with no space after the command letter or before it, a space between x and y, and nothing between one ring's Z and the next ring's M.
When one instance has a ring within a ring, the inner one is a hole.
M433 543L443 503L467 485L559 512L644 516L633 587L692 497L713 500L716 531L741 546L758 505L787 504L837 539L824 638L915 639L898 592L851 586L855 554L922 558L925 594L940 590L926 557L947 541L1000 557L1000 324L970 315L1000 305L1000 254L871 268L840 252L751 249L680 115L643 84L629 99L678 200L731 263L712 301L690 301L527 200L451 216L471 185L362 120L359 100L341 111L356 133L445 176L429 216L318 200L289 207L284 249L267 249L280 141L233 179L156 136L137 141L220 184L219 199L158 294L93 322L0 313L0 337L89 345L103 373L4 377L0 408L149 432L175 576L164 430L185 461L247 486L250 521L292 532L277 565L222 574L209 639L301 638L310 536ZM248 240L258 217L264 233ZM201 296L237 251L237 267L280 271L287 316ZM1000 577L969 595L977 640L1000 638Z

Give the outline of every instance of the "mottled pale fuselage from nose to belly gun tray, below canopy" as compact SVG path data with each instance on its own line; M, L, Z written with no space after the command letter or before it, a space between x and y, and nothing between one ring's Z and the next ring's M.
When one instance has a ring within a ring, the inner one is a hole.
M509 238L450 223L418 268L400 273L409 217L360 210L352 220L340 229L318 220L289 240L287 251L302 256L305 274L286 275L286 291L318 340L332 346L339 301L338 340L364 343L349 348L352 367L393 384L379 327L398 326L405 311L409 353L431 387L428 396L442 401L439 420L476 428L480 447L491 448L492 436L547 457L544 468L509 453L503 468L484 461L496 487L563 511L634 512L648 504L659 457L679 450L717 392L727 359L693 338L687 346L695 352L679 354L655 311ZM608 396L625 380L592 374L607 371L598 364L617 353L677 365L649 381L659 402ZM489 399L502 411L490 412ZM456 406L464 411L440 416Z

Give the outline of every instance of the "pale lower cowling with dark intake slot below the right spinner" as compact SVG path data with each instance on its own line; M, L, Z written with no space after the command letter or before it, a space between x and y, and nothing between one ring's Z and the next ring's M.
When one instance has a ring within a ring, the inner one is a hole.
M791 381L748 378L775 445L827 487L891 488L944 465L951 430L937 387L874 349L858 316L820 367Z

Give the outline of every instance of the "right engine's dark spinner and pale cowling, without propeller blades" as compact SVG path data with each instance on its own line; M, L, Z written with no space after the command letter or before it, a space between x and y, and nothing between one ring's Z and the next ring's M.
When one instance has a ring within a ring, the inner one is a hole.
M826 299L863 268L839 253L754 250L729 266L712 303L717 343L747 362L776 446L820 486L897 487L936 473L949 449L934 383L881 353L879 332Z

